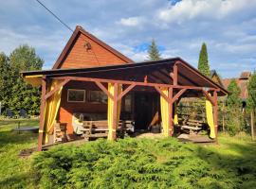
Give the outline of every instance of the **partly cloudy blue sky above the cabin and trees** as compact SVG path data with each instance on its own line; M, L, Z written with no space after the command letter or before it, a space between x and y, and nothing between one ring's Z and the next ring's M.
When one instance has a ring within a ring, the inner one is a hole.
M154 38L163 58L197 66L207 43L210 68L222 77L256 69L256 0L41 0L64 22L80 25L129 58L147 59ZM27 43L49 69L71 32L35 0L1 0L0 51Z

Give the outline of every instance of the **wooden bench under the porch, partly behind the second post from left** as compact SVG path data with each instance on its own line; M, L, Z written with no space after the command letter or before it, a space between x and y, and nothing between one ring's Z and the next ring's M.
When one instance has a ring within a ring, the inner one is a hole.
M83 121L82 123L82 136L85 140L90 140L90 138L106 138L108 136L107 120ZM119 127L117 129L119 137L123 137L131 127L134 127L133 121L119 120Z

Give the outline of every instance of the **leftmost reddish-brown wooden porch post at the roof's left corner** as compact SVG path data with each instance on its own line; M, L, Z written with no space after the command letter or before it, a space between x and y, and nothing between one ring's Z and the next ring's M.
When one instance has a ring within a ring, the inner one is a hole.
M45 119L45 107L46 107L46 76L42 78L42 94L41 94L41 106L40 106L40 125L38 133L38 151L42 151L43 137L44 137L44 119Z

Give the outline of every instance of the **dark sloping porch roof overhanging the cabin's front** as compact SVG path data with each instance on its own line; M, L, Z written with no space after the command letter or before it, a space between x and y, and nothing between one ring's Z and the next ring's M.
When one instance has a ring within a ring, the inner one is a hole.
M96 77L129 81L143 81L144 77L147 76L149 82L170 84L172 83L170 73L174 68L174 64L177 65L178 69L178 85L204 87L205 89L214 88L218 90L219 95L229 94L222 86L212 81L209 77L202 75L197 69L193 68L192 65L180 58L92 68L28 71L22 72L21 74L25 80L33 83L34 86L40 84L40 79L43 76L47 78Z

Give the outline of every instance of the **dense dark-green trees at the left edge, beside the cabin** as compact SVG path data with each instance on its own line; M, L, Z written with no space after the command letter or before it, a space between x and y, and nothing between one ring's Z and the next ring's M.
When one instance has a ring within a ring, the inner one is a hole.
M43 66L35 49L21 45L10 53L9 58L0 55L0 100L5 109L15 114L21 109L28 114L38 114L40 106L40 91L28 85L20 76L21 71L40 70Z

